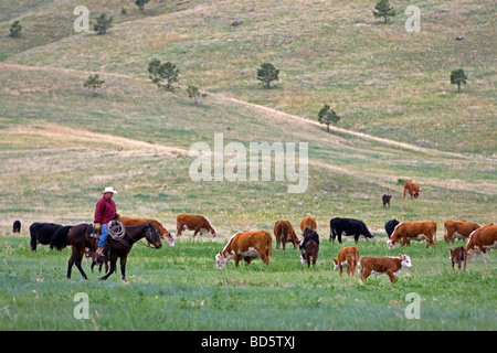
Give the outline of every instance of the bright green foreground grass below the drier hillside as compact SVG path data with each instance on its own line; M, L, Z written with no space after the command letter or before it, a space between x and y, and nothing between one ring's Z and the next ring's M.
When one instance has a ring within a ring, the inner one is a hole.
M326 233L322 233L326 234ZM224 243L181 239L176 247L136 245L128 258L128 281L120 275L89 280L75 269L65 278L70 250L29 250L23 237L1 237L2 330L495 330L495 254L466 271L453 271L450 246L425 249L415 243L388 250L384 238L359 242L361 256L406 253L413 267L392 286L385 276L359 277L332 271L340 245L321 236L315 268L300 265L295 249L262 261L216 269ZM347 242L347 244L352 242ZM89 319L74 318L77 292L89 300ZM410 301L421 297L421 319L406 319Z

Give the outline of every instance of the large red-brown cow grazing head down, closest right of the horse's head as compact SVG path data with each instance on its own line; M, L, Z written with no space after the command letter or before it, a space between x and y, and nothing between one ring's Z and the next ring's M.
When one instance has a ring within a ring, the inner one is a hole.
M226 246L215 255L215 263L219 268L226 267L231 259L234 259L235 266L240 260L245 260L248 265L253 259L262 259L269 265L273 255L273 238L266 231L248 231L234 234Z

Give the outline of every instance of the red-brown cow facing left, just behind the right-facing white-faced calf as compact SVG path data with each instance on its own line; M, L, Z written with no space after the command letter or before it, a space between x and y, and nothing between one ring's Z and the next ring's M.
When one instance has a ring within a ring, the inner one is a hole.
M431 221L402 222L393 229L387 247L393 249L400 240L401 245L411 245L411 240L422 242L426 239L426 247L435 245L436 223Z

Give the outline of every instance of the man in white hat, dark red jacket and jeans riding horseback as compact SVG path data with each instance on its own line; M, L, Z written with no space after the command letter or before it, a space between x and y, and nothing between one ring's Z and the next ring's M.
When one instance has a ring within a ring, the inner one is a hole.
M108 236L107 223L118 217L116 204L113 201L113 196L117 194L117 191L113 186L107 186L102 194L102 199L96 203L93 220L93 223L95 223L94 232L98 233L101 231L101 238L98 239L98 248L96 250L98 255L104 255L104 245Z

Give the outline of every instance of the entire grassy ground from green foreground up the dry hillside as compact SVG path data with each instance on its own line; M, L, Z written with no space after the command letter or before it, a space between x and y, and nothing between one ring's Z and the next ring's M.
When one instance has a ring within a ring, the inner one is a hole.
M144 12L131 1L85 1L91 28L101 12L115 17L106 35L74 32L80 4L0 0L1 330L497 329L495 254L452 271L443 242L447 220L497 216L495 1L419 1L420 33L404 31L410 1L395 1L389 25L371 1L150 1ZM14 20L19 39L8 36ZM150 83L155 57L180 68L175 92ZM263 62L281 68L269 90L255 78ZM456 68L468 74L462 94L450 84ZM95 98L83 87L93 73L106 81ZM208 94L198 106L188 85ZM341 116L331 133L316 121L325 103ZM213 149L214 133L224 147L307 142L306 192L287 193L287 179L192 181L188 150ZM402 200L404 180L421 185L419 200ZM70 250L31 253L29 225L92 222L108 185L124 216L176 232L179 213L204 214L218 236L136 246L126 284L83 281L74 270L67 280ZM389 208L383 193L393 195ZM298 226L307 215L322 239L316 268L293 249L274 252L269 267L214 268L235 232L272 233L276 221ZM362 256L403 252L414 267L393 286L340 278L331 269L339 245L326 242L335 216L377 235L359 243ZM388 250L391 218L436 222L436 247ZM88 320L73 317L77 292L88 295ZM404 317L409 292L422 298L421 320Z

